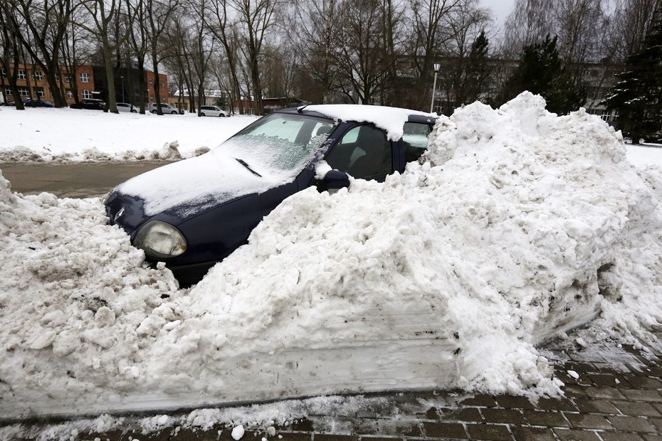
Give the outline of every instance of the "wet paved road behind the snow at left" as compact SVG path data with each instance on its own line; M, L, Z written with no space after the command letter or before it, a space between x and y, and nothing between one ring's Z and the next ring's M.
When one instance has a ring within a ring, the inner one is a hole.
M23 194L42 191L58 197L82 198L103 195L111 188L164 162L78 163L78 164L0 164L11 189Z

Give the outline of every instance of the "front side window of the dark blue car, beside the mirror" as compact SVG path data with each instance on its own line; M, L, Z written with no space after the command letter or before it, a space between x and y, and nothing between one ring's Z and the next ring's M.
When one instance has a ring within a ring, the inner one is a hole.
M332 169L357 179L382 180L393 171L392 147L383 130L364 124L350 129L327 154Z

